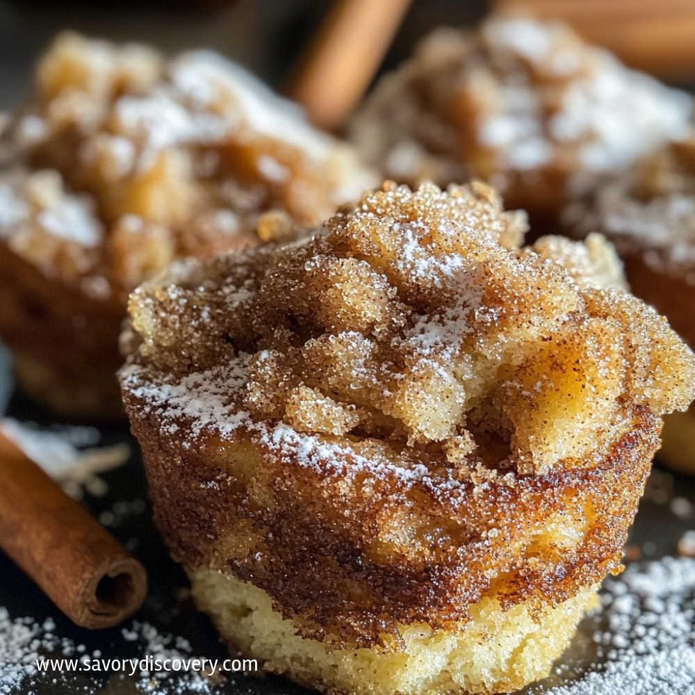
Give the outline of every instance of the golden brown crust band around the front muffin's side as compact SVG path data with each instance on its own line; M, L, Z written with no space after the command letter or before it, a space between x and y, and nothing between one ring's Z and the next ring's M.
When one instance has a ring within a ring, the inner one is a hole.
M214 439L186 450L146 402L124 398L174 558L253 582L306 637L342 648L383 644L396 622L455 631L483 596L557 605L616 571L659 445L660 420L636 408L591 468L476 484L440 453L418 457L416 479L402 475L415 461L390 470L348 454L316 468L253 434L240 451ZM563 547L557 525L581 540Z

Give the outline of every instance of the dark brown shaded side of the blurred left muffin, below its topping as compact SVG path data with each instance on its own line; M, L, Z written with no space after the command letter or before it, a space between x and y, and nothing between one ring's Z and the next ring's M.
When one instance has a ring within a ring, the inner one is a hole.
M124 419L115 377L124 302L90 297L1 251L0 338L13 354L17 390L58 418Z

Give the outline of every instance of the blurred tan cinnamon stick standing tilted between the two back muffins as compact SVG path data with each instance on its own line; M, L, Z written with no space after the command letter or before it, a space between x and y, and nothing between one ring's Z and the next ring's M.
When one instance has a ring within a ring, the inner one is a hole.
M361 99L410 0L336 0L300 61L289 95L318 126L341 124Z

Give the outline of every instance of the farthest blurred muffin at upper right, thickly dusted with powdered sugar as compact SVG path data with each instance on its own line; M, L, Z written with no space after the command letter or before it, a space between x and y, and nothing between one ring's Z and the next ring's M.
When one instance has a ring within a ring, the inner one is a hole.
M684 138L692 97L628 70L561 22L491 15L441 28L386 74L351 137L387 177L477 177L555 231L567 199Z

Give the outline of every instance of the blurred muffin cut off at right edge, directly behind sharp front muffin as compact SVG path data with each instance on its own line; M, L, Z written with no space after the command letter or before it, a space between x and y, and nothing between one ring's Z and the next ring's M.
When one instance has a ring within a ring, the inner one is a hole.
M695 345L695 135L663 147L566 208L575 236L598 230L616 246L632 291ZM695 410L664 420L660 457L695 473Z

